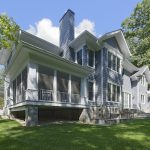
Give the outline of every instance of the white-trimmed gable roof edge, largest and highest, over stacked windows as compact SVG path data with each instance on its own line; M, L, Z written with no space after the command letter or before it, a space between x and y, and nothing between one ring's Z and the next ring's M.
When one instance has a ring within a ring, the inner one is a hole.
M102 41L108 39L108 38L111 38L111 37L115 37L117 42L118 42L118 45L121 49L121 52L124 54L125 58L129 58L131 56L131 52L129 50L129 47L127 45L127 42L124 38L124 35L122 33L122 30L119 29L119 30L116 30L116 31L112 31L112 32L108 32L106 34L104 34L103 36L101 36L99 39L98 39L98 42L101 43Z

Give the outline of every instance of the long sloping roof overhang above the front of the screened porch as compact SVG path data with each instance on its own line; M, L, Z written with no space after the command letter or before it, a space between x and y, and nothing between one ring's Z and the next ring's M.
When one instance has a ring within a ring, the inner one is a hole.
M66 60L65 58L62 58L56 54L50 53L29 43L22 42L22 46L28 50L31 61L34 61L37 64L46 64L47 67L50 66L52 69L72 73L79 77L88 76L94 71L90 67L81 66L75 62Z

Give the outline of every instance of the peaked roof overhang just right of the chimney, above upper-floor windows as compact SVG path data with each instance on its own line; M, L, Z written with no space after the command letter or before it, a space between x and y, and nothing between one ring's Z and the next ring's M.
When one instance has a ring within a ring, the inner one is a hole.
M70 47L73 49L79 49L81 46L87 45L87 47L91 50L97 51L100 49L99 45L97 44L97 37L93 34L85 30L82 32L76 39L74 39L70 43Z

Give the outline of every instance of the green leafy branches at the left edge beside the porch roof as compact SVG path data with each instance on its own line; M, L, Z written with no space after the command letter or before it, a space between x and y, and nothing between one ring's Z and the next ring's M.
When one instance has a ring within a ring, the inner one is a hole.
M10 49L17 43L19 26L6 14L0 14L0 50Z

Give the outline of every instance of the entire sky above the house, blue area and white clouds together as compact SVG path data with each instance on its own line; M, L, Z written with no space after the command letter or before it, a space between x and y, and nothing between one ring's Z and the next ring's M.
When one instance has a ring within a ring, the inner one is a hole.
M85 29L101 36L121 28L141 0L0 0L6 13L21 29L51 43L59 43L59 20L67 9L75 12L75 36Z

